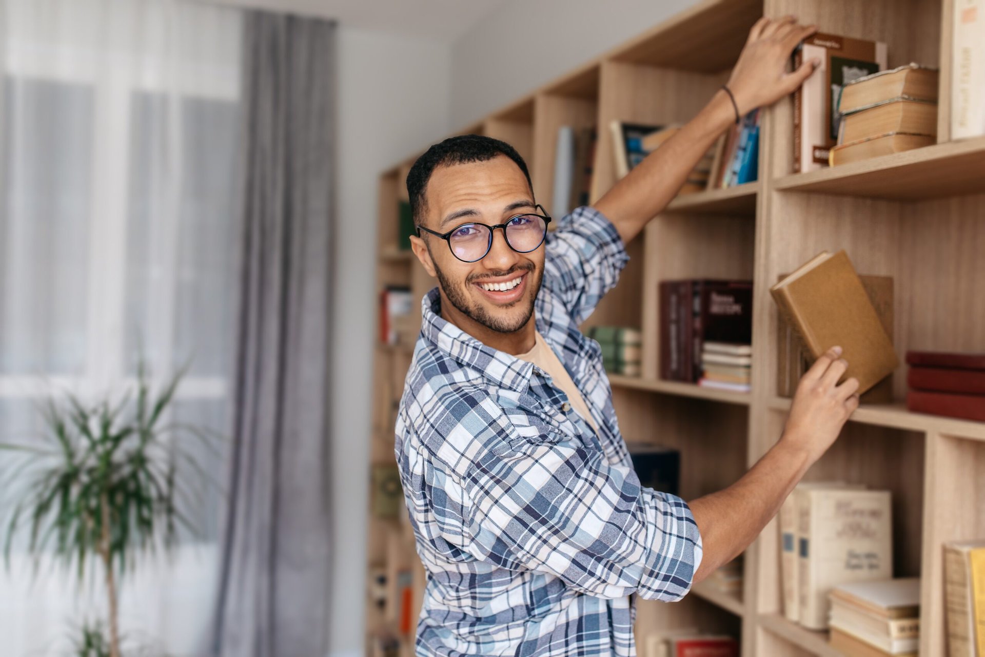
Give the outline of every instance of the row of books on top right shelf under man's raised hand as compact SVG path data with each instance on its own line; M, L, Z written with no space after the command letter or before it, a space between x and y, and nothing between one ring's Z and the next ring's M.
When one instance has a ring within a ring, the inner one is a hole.
M951 138L985 135L985 0L953 14ZM886 70L886 43L815 33L794 66L821 65L794 94L794 171L811 171L937 141L939 75L910 63Z

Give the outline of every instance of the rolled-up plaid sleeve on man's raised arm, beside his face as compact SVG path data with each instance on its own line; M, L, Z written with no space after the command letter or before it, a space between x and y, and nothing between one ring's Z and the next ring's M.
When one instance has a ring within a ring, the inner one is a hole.
M619 282L629 260L623 238L602 213L583 206L548 233L544 286L582 322Z

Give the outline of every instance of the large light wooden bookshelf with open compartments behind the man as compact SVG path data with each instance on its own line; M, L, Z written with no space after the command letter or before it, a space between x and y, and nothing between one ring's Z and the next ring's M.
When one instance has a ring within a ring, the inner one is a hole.
M985 280L985 138L948 141L951 12L952 0L707 0L456 133L513 144L527 160L537 200L550 211L560 126L595 127L591 197L598 199L616 181L610 123L689 120L728 78L749 28L763 14L793 14L823 32L886 41L890 67L909 61L941 66L937 145L794 174L792 103L783 99L763 111L757 182L681 196L627 245L631 260L619 286L585 326L642 331L642 375L610 376L613 403L626 440L681 451L685 498L732 484L781 434L790 400L776 394L777 314L768 288L822 249L844 248L860 273L893 277L897 353L985 351L985 297L978 290ZM406 195L404 176L414 157L379 177L377 287L409 286L420 298L434 282L396 249L396 204ZM675 278L754 281L751 393L659 379L657 286ZM392 463L394 403L412 355L406 346L382 345L374 354L371 454L374 463ZM893 574L922 578L920 653L941 655L942 546L985 536L980 505L961 503L985 498L985 424L906 411L905 374L905 365L895 372L895 401L860 407L806 479L837 478L892 492ZM406 521L371 519L368 543L369 564L394 573L419 568L418 609L425 577ZM744 562L741 595L704 582L674 605L640 601L637 636L698 626L739 637L747 657L834 657L826 632L782 615L775 520ZM393 613L367 604L367 637L393 631ZM402 637L402 646L403 654L412 654L413 637Z

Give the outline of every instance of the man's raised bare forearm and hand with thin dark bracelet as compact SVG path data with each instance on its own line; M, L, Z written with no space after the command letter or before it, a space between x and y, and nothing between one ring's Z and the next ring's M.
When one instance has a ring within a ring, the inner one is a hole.
M772 104L793 93L814 72L817 60L804 62L792 73L786 72L786 66L794 46L816 31L817 26L798 25L792 16L756 22L726 85L735 105L728 92L718 90L697 116L595 204L619 230L624 243L677 195L690 170L736 120L737 110L742 116Z

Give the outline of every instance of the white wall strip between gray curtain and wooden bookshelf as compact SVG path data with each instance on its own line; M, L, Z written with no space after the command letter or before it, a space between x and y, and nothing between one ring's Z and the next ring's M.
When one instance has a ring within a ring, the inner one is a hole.
M361 657L365 591L376 180L450 131L451 52L339 27L338 191L332 349L333 611L330 654Z

